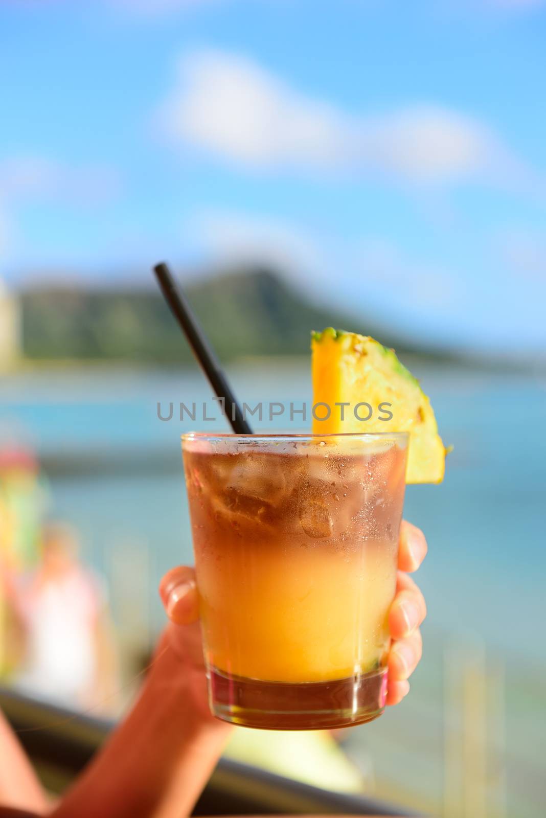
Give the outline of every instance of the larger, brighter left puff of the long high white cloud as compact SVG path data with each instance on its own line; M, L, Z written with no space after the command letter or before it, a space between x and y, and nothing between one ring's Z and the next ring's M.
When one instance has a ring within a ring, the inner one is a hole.
M242 57L198 52L179 67L163 125L243 164L338 163L346 127L334 108L292 92Z

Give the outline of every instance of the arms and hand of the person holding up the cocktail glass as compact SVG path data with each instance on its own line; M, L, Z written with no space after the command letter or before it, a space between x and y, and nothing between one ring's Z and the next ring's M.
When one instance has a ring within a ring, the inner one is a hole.
M419 626L426 607L408 572L418 569L426 553L423 533L403 523L397 592L389 612L393 643L387 704L399 703L408 693L408 677L421 658ZM0 714L0 818L190 815L232 727L208 708L194 569L172 569L159 591L170 622L140 697L55 807L47 803L16 735Z

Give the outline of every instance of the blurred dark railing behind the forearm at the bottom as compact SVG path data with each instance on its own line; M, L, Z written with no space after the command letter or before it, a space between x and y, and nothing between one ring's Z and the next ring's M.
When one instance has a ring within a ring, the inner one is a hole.
M0 688L0 708L44 784L60 793L107 738L113 722L82 716ZM332 793L280 775L222 759L195 816L244 815L415 816L374 798Z

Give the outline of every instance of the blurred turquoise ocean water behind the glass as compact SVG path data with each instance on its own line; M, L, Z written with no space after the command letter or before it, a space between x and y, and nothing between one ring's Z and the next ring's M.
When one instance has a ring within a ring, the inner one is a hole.
M347 749L363 768L373 764L378 793L435 809L445 788L445 662L478 658L503 678L502 714L493 714L495 723L502 715L503 737L488 741L494 755L498 740L505 748L498 750L507 759L507 808L539 815L546 380L437 366L416 366L415 374L454 446L441 486L406 493L405 517L429 544L416 575L428 607L423 662L405 703L351 731ZM230 376L248 403L311 403L308 362L241 362ZM49 465L51 515L81 533L83 558L105 575L120 631L150 641L163 622L161 574L192 561L179 436L227 428L222 418L177 418L179 402L196 402L199 415L207 402L213 412L208 384L196 369L88 366L11 375L1 389L0 435L29 442ZM172 420L159 420L158 402L163 414L173 402ZM290 426L286 415L255 425ZM292 426L301 429L302 420ZM500 804L490 814L501 816L502 788L490 786Z

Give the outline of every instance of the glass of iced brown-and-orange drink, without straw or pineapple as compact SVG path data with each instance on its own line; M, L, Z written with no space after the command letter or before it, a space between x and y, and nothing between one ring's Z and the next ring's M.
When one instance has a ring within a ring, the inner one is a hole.
M383 712L406 447L406 434L183 436L217 717L311 730Z

